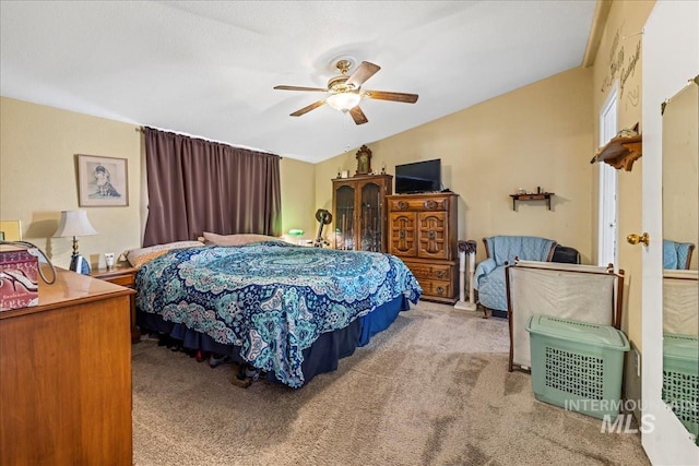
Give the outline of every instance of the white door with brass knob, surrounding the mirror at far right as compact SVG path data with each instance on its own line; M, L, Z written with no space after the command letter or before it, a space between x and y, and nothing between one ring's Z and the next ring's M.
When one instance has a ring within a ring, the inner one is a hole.
M662 117L661 103L699 74L699 2L656 2L643 28L643 248L642 421L643 449L656 465L697 465L699 447L661 399L663 383ZM635 167L636 168L636 167Z

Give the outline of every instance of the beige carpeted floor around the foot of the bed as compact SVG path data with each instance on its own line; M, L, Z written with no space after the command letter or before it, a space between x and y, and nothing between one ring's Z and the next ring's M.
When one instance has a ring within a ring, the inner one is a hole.
M133 346L133 456L155 465L648 465L639 434L537 402L507 321L419 302L300 390Z

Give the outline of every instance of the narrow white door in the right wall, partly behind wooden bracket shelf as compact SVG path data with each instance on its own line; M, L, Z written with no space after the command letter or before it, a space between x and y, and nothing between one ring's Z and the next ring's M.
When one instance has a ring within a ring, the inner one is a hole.
M609 142L617 133L617 88L615 83L600 112L600 147ZM616 169L608 164L600 163L600 230L597 250L597 265L614 264L618 270L616 246Z

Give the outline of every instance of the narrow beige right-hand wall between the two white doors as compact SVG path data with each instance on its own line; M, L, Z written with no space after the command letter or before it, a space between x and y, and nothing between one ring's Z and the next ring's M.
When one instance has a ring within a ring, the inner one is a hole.
M593 119L595 144L599 141L599 115L609 91L618 88L618 128L631 128L641 121L641 33L654 1L614 1L607 17L600 49L592 67ZM660 105L660 103L657 104ZM626 274L623 328L641 348L641 247L626 241L629 234L641 229L641 172L643 158L631 171L618 170L617 247L619 268ZM593 205L597 205L597 172L593 177ZM594 216L596 223L596 215ZM596 234L593 235L596 251ZM595 252L596 253L596 252Z

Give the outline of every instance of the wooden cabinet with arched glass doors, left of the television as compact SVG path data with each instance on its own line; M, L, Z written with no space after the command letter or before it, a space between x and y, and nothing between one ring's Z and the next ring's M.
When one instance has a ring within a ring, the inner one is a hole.
M393 192L393 176L336 178L332 188L333 248L386 252L386 196Z

